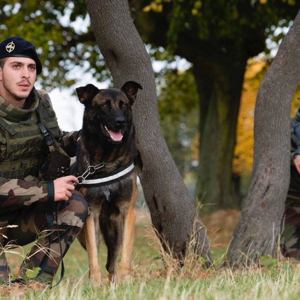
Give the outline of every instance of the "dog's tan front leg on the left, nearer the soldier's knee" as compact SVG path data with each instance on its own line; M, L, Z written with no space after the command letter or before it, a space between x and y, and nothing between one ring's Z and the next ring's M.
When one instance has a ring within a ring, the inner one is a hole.
M85 242L88 257L88 267L89 267L89 278L94 286L101 285L101 272L98 263L98 244L96 240L96 230L95 219L92 215L87 216L84 224Z

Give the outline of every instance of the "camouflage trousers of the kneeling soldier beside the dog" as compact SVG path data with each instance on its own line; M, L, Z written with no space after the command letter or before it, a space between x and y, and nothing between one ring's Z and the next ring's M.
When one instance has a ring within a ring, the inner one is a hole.
M5 250L14 246L23 246L36 241L20 266L20 273L40 265L47 249L49 258L44 272L34 279L40 282L52 282L62 257L80 232L88 214L88 205L79 191L74 190L68 201L55 202L54 230L49 245L46 227L47 203L35 202L22 209L0 214L0 282L8 281L10 269ZM57 219L57 221L56 221ZM17 225L17 227L7 227ZM61 250L60 250L61 246Z

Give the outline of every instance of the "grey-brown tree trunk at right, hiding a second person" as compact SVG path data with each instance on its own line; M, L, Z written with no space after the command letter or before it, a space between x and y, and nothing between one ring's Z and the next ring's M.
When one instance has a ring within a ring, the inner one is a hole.
M229 246L231 264L277 254L289 183L290 105L300 81L299 49L300 12L258 89L252 181Z

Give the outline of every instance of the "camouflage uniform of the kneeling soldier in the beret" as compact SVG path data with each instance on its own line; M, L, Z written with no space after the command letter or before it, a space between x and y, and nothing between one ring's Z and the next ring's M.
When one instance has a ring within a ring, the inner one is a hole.
M21 144L20 149L17 143L13 144L8 140L11 138L10 133L3 128L4 119L7 124L18 124L18 130L21 130L19 135L25 136L29 131L22 128L26 127L30 120L32 120L31 125L35 126L39 101L42 101L46 107L41 114L43 121L48 117L44 122L45 126L50 127L53 136L60 141L69 156L75 155L78 131L60 131L50 99L44 91L36 91L33 88L23 109L7 103L0 97L0 282L7 281L10 272L2 249L7 245L22 246L32 241L36 243L24 259L20 270L24 272L28 268L38 267L45 255L45 248L49 248L50 257L45 270L35 279L41 282L52 282L61 260L59 239L62 255L64 255L81 230L88 213L87 202L78 191L73 191L68 201L55 202L58 215L54 217L54 229L59 230L53 231L52 242L49 245L48 236L45 236L49 183L37 179L38 169L46 149L43 136L40 130L38 132L34 127L34 130L29 130L33 135L32 140L26 140ZM25 148L26 146L28 148ZM17 165L15 170L11 165ZM7 225L17 225L17 227L6 227Z

